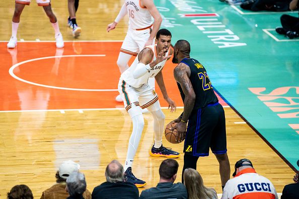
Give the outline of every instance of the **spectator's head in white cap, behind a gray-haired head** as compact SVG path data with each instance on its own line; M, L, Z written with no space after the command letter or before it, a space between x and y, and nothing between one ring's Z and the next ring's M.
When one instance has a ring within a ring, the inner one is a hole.
M55 177L56 182L65 182L67 177L74 171L79 172L80 165L74 161L67 160L61 163L59 169L57 170Z

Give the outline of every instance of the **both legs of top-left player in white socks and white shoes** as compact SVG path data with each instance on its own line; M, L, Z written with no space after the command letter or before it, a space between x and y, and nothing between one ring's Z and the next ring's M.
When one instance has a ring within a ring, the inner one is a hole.
M19 28L20 23L20 17L22 14L23 9L25 8L25 5L30 5L31 0L16 0L16 6L15 6L15 13L13 16L13 22L12 22L12 37L7 44L8 48L15 48L17 46L17 32ZM58 22L56 19L56 16L52 12L51 8L51 2L50 0L36 0L36 3L38 6L42 6L46 15L50 19L51 25L54 28L55 31L55 40L56 40L56 47L57 48L63 48L63 38L59 30Z

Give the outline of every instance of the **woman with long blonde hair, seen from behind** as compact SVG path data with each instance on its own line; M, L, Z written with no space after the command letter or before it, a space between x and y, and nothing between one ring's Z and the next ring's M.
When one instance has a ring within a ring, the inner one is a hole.
M189 199L217 199L217 193L213 188L203 185L203 180L197 170L187 168L184 171L184 184L188 192Z

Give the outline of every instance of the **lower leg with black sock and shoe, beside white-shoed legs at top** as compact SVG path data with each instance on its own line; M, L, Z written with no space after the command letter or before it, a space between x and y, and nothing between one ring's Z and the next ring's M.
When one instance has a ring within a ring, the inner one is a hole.
M76 4L77 3L77 4ZM77 9L76 9L77 5ZM77 38L80 36L82 29L78 26L76 21L76 12L78 10L79 0L67 0L67 7L68 7L68 24L72 28L72 35Z

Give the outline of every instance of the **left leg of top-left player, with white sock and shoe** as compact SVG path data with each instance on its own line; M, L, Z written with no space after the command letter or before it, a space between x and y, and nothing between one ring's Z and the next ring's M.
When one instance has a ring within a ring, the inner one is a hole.
M19 3L15 4L15 13L12 21L12 36L10 41L7 44L8 48L15 48L17 46L17 41L18 41L17 32L20 23L20 17L24 8L25 8L25 4L19 4Z

